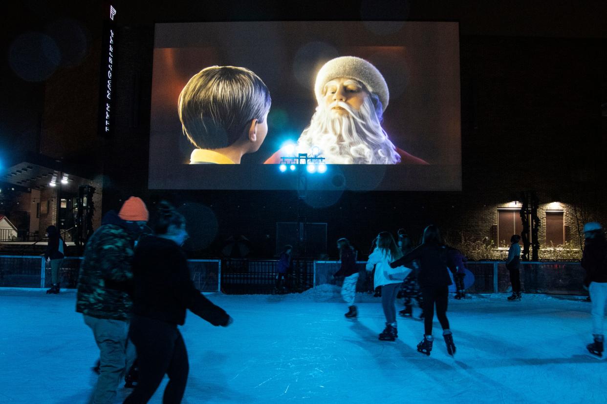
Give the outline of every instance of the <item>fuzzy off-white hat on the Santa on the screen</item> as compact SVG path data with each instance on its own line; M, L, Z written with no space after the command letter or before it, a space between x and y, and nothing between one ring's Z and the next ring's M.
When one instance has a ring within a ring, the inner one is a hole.
M314 84L314 94L316 101L320 104L322 100L322 88L327 82L345 77L361 82L371 93L376 94L381 101L382 111L388 106L390 101L390 92L385 83L384 76L379 70L365 59L356 58L356 56L340 56L331 59L320 68L316 75L316 84Z

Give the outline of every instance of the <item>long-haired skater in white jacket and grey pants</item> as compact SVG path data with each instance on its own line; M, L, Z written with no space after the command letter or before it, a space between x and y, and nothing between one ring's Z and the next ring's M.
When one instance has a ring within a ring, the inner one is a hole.
M373 270L375 266L373 285L375 287L382 286L381 305L385 315L385 329L379 334L379 339L382 341L393 341L398 337L396 294L398 294L402 281L409 275L411 269L399 265L390 268L390 262L398 260L401 256L401 250L396 246L392 234L382 231L377 237L377 247L367 260L367 271Z

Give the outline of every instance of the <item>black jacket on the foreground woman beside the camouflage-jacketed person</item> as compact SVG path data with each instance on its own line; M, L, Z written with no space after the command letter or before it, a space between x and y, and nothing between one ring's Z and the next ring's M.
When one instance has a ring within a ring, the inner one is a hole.
M183 250L172 240L144 237L133 259L136 316L182 325L186 309L212 325L227 325L229 316L198 291Z

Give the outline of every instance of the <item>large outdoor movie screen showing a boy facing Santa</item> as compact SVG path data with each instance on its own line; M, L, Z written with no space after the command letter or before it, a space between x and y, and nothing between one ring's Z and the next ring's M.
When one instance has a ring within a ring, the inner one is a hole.
M149 188L461 190L457 22L155 25Z

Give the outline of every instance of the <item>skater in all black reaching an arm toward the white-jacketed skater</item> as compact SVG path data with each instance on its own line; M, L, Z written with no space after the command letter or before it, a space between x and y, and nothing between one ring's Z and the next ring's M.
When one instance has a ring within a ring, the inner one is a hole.
M449 273L455 272L455 265L449 259L447 248L441 242L440 233L436 226L430 225L424 230L421 245L409 254L390 263L390 267L396 268L407 265L412 260L419 262L419 286L421 286L424 298L424 339L418 343L419 352L430 355L432 351L432 322L434 319L434 306L436 304L436 317L443 327L443 337L447 345L447 353L455 354L453 334L449 329L447 319L447 302L449 300L449 285L452 283Z

